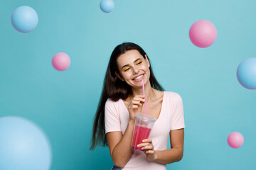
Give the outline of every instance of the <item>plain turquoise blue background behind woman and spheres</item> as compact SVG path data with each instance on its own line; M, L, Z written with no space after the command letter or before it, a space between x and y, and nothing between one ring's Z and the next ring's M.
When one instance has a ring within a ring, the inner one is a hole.
M90 151L92 121L114 47L141 45L166 91L183 98L185 143L181 162L167 169L252 169L255 167L256 91L242 87L236 69L255 57L253 0L115 0L111 13L100 0L1 0L0 116L32 120L53 147L52 170L110 169L107 147ZM38 26L19 33L11 25L18 6L38 13ZM188 30L198 20L217 31L208 48L192 44ZM70 56L65 72L53 69L57 52ZM231 132L245 138L228 146Z

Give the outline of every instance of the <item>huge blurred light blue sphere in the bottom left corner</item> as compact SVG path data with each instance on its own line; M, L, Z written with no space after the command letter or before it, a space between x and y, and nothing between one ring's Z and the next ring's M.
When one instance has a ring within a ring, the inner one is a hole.
M0 169L49 170L52 162L46 135L29 120L0 118Z

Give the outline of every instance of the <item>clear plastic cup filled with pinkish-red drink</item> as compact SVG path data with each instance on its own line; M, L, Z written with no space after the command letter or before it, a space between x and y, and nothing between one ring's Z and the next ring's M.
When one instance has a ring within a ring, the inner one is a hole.
M142 151L141 147L137 147L142 140L148 139L151 129L156 122L156 118L151 115L145 115L143 113L138 113L135 115L134 124L134 135L132 137L132 149Z

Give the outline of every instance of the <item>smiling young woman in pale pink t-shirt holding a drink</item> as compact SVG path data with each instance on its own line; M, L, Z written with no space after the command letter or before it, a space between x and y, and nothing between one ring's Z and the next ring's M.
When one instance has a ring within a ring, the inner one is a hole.
M156 122L149 139L138 146L142 151L137 151L131 148L134 120L136 113L145 113L145 100L147 114ZM164 91L156 81L142 47L132 42L115 47L95 115L90 149L100 143L108 145L112 169L166 169L166 164L183 157L184 127L181 97ZM169 135L171 149L167 149Z

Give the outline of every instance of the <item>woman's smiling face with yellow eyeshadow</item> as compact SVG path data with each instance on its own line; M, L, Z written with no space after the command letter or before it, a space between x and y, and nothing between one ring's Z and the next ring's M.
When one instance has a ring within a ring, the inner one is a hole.
M129 50L117 58L117 66L119 73L116 72L117 77L122 81L126 81L129 86L142 86L142 79L144 84L149 80L149 60L146 59L137 51Z

